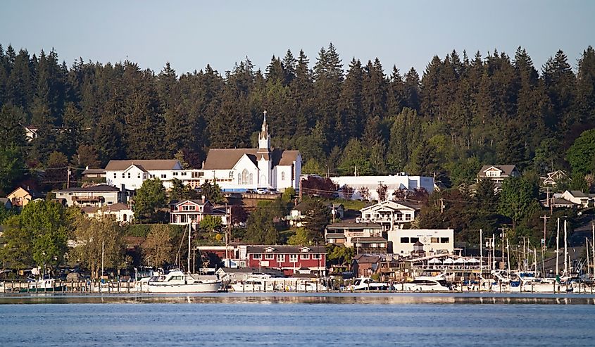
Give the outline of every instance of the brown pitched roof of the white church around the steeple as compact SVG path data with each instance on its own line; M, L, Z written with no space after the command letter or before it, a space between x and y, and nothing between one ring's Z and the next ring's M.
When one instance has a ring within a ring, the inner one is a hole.
M258 149L209 149L203 170L230 170L246 154L256 165L258 159L267 153L258 153ZM274 149L271 153L273 166L292 165L297 160L299 151Z

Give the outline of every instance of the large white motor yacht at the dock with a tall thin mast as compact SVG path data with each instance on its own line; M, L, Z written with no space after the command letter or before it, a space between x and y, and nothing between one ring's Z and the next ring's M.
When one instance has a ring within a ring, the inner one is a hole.
M191 224L188 223L188 272L171 270L167 274L151 277L146 282L149 293L214 293L221 288L221 280L216 276L190 274Z

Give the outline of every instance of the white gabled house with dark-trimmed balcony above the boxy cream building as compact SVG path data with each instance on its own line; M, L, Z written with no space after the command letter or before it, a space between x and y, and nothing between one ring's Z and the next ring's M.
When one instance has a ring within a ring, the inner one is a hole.
M356 222L368 222L382 225L384 231L401 229L418 215L421 206L408 201L386 200L360 210L361 217Z

